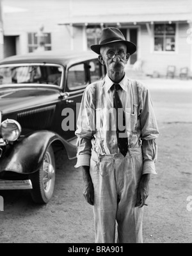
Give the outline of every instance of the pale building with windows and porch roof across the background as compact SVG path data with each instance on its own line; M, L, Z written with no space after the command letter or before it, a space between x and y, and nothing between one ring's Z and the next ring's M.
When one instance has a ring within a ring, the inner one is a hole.
M128 67L145 75L192 74L191 0L1 0L4 56L45 50L89 50L107 26L138 46Z

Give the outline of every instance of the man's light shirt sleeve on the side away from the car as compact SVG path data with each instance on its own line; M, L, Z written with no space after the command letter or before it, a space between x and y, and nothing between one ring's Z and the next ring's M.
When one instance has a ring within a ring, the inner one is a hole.
M140 88L140 125L143 152L143 174L157 174L155 163L157 160L157 142L159 129L148 89Z

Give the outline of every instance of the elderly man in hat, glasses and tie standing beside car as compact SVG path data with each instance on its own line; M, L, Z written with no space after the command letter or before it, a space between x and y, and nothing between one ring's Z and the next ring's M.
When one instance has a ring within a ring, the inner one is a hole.
M93 205L95 242L143 242L143 206L156 174L159 134L148 89L125 75L136 51L117 28L104 28L99 54L107 75L86 87L77 120L77 164Z

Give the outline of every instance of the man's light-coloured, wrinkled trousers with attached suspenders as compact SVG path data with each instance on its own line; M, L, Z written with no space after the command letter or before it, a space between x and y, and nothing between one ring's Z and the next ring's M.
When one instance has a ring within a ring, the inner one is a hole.
M96 87L97 110L100 107L100 86L101 84L98 83ZM143 207L135 207L138 183L143 169L140 140L134 147L130 147L132 134L136 135L139 122L137 118L138 93L134 82L132 82L132 92L135 118L131 120L129 148L125 157L121 153L106 154L104 150L103 154L97 152L96 144L102 144L102 139L100 127L96 125L97 136L90 160L90 175L94 187L93 214L95 242L97 243L115 243L116 223L117 242L143 242Z

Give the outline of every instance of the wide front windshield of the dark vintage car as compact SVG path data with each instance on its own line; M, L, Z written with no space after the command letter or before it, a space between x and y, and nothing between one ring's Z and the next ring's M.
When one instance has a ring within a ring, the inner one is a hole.
M3 84L52 84L61 86L63 68L56 64L10 64L0 66Z

